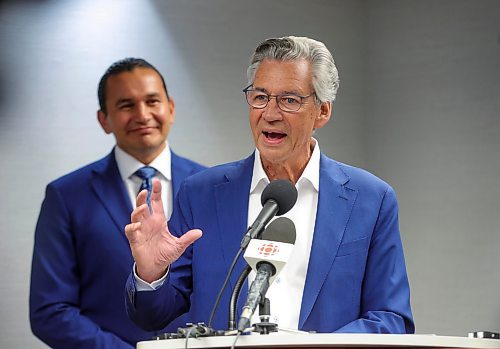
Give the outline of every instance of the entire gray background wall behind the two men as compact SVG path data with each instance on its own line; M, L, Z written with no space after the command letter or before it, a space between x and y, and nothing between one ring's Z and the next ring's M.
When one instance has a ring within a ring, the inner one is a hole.
M417 333L500 332L500 1L4 1L0 347L44 347L27 315L34 226L45 185L111 149L106 67L155 64L172 147L214 165L252 151L248 57L287 34L325 42L340 70L321 149L396 189Z

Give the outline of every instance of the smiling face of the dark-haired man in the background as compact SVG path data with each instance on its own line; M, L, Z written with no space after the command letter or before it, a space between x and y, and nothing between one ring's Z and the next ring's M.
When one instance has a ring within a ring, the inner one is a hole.
M167 97L158 73L135 68L109 77L106 83L107 114L98 111L99 123L116 144L144 164L165 148L175 119L175 105Z

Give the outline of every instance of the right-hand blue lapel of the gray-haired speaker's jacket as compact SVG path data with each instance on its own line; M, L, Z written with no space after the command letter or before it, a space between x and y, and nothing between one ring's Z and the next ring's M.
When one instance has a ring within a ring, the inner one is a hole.
M321 154L318 209L309 266L300 309L304 326L326 280L342 241L357 191L347 188L349 178L338 164Z

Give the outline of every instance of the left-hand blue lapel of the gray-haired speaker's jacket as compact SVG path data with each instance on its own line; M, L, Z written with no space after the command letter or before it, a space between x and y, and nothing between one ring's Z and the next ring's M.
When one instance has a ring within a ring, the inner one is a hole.
M223 250L226 271L240 248L240 242L248 226L248 197L252 180L254 155L238 162L225 174L226 180L214 188L215 205ZM228 203L231 203L228 205ZM231 274L231 288L234 287L239 274L246 266L243 258L239 258L235 270ZM243 287L242 297L246 294Z

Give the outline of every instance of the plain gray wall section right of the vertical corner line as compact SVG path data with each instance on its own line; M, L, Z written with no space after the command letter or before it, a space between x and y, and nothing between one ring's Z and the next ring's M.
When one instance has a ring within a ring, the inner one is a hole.
M368 9L365 154L399 196L417 330L500 332L500 1Z

